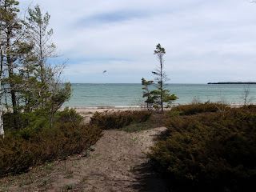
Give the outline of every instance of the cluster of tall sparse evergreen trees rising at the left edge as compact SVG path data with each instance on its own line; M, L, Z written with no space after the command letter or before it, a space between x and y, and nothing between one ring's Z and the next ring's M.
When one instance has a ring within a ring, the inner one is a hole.
M0 134L4 136L2 106L9 111L12 130L34 123L53 126L56 111L70 98L70 82L62 82L65 63L53 65L58 56L51 42L50 14L40 7L19 18L18 1L1 1L0 11ZM5 100L2 98L6 98ZM3 102L5 101L5 102ZM3 102L3 103L2 103ZM5 119L6 121L6 119ZM10 127L7 127L10 130ZM6 130L6 127L5 127Z

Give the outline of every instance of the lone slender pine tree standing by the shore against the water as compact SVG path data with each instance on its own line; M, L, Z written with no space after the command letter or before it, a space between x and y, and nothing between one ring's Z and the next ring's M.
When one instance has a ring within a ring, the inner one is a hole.
M165 89L165 83L170 79L167 78L166 72L163 70L164 66L164 54L166 54L165 48L163 48L160 43L156 46L156 50L154 50L154 54L156 54L158 58L159 65L157 68L152 71L152 74L156 75L154 81L146 81L145 78L142 78L142 88L143 90L143 98L146 98L147 108L150 109L151 106L154 109L163 111L163 105L166 103L167 107L170 107L172 101L178 99L174 94L169 94L170 90ZM155 82L154 86L157 90L150 90L149 86L151 86Z

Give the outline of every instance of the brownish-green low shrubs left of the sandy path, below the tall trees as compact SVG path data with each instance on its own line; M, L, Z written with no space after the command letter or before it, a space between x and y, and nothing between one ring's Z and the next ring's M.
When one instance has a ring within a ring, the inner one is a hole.
M32 166L82 153L102 136L97 126L80 123L81 118L73 110L58 113L56 119L50 129L26 127L0 138L0 176L22 173Z

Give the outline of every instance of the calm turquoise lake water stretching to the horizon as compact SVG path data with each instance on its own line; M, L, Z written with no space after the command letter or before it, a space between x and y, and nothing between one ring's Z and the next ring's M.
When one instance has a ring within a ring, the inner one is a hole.
M166 89L178 96L174 104L187 104L193 98L202 102L225 101L229 104L242 104L247 85L208 85L208 84L169 84ZM73 92L69 102L64 106L90 108L101 106L130 107L141 106L142 85L136 83L91 84L74 83ZM249 98L256 97L256 85L250 85ZM253 101L256 103L256 100Z

